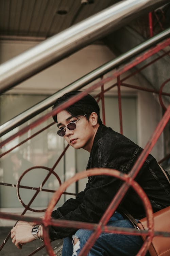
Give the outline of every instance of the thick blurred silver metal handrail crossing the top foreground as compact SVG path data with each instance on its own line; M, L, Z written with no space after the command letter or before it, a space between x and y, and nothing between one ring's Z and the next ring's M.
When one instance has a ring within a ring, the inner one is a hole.
M0 93L169 0L126 0L54 35L0 66Z

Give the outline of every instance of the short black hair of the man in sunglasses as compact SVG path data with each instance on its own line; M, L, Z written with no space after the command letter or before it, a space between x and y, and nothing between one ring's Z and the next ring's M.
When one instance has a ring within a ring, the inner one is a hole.
M81 91L70 91L69 93L64 94L62 97L58 98L52 109L66 102L71 97L81 93ZM81 115L86 115L87 120L89 120L89 116L92 112L96 112L98 115L98 123L102 124L102 120L100 118L100 109L96 100L89 94L84 96L82 99L73 103L71 106L65 109L70 115L78 117ZM57 114L53 116L54 121L57 123Z

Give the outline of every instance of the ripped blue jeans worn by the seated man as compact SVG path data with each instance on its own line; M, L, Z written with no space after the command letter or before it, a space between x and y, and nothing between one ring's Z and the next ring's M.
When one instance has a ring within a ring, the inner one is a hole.
M133 228L133 225L128 219L115 212L107 223L109 226ZM82 247L90 237L92 230L79 229L74 237L79 241L73 246L73 239L66 237L63 243L62 256L79 255ZM124 234L101 233L96 240L94 246L90 249L88 256L135 256L142 246L140 236L127 236ZM149 253L147 253L149 256Z

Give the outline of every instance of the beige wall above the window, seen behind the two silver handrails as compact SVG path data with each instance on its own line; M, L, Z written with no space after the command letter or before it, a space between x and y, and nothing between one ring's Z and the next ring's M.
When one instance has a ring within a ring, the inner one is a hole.
M1 41L0 63L33 47L35 42ZM15 93L53 94L114 58L105 45L89 45L16 86Z

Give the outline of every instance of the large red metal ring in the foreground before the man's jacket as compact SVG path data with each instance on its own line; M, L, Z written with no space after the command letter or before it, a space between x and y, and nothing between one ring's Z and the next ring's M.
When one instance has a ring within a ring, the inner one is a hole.
M124 174L122 172L119 172L117 170L111 170L111 169L91 169L88 171L83 171L81 173L77 173L75 174L72 178L70 178L69 180L65 181L61 187L54 193L48 208L46 210L45 213L45 218L43 220L43 234L44 234L44 243L46 245L47 248L47 252L50 256L56 256L51 244L50 244L50 240L49 240L49 234L48 234L48 226L49 226L49 221L51 219L51 213L53 211L53 208L55 207L56 203L58 202L58 200L60 199L61 195L64 193L64 191L67 189L67 187L69 185L71 185L73 182L76 182L82 178L85 178L87 176L93 176L93 175L111 175L114 176L122 181L125 181L126 183L128 183L130 186L133 187L133 189L136 191L136 193L138 194L138 196L141 198L145 211L146 211L146 216L147 216L147 222L148 222L148 233L147 233L147 239L146 241L143 243L142 247L140 248L138 254L136 256L141 256L141 255L145 255L145 253L147 252L149 245L153 239L154 236L154 229L153 229L153 211L152 211L152 207L150 204L150 201L146 195L146 193L143 191L143 189L139 186L139 184L137 182L135 182L132 178L129 177L129 175ZM71 221L70 221L71 222ZM116 233L116 232L115 232ZM122 232L123 233L123 232ZM97 239L97 238L96 238ZM86 246L86 245L85 245ZM84 246L84 247L85 247ZM87 245L88 246L88 245ZM86 247L87 247L86 246ZM90 248L88 248L90 250ZM81 254L80 252L80 256L84 256L85 254ZM86 254L87 255L87 254Z

